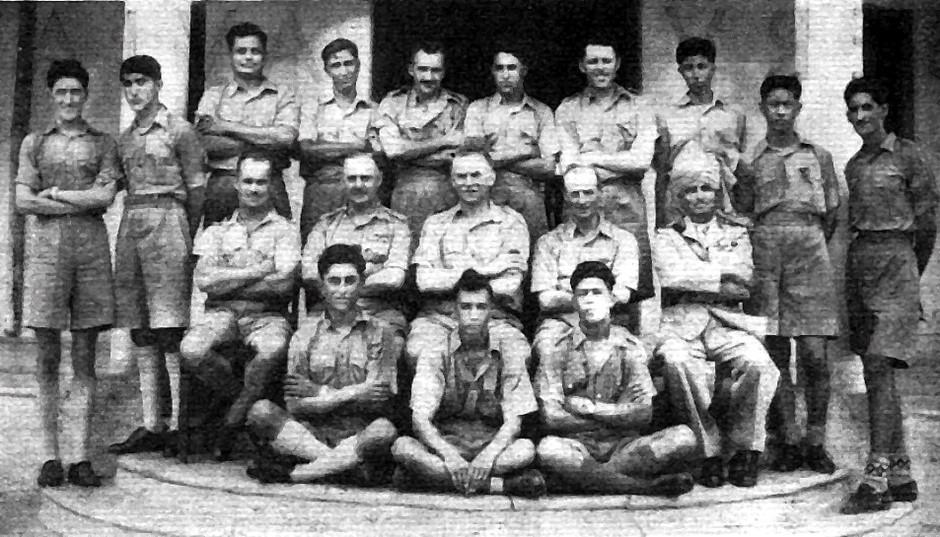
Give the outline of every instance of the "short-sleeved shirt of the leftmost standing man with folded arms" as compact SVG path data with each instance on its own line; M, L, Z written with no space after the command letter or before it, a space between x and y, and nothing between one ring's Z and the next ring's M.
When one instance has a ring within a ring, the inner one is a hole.
M114 138L84 121L77 134L65 134L53 125L27 135L20 146L16 182L36 192L52 187L88 190L110 186L121 177ZM100 214L104 209L89 212Z

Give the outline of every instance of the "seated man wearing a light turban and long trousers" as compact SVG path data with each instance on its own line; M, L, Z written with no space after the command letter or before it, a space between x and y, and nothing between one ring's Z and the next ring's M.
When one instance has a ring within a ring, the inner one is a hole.
M741 309L753 278L751 242L737 218L718 212L720 173L715 155L700 147L673 164L670 187L683 218L658 229L653 244L664 308L651 368L662 372L675 416L695 433L704 457L699 482L724 484L724 436L735 450L727 480L753 487L780 373L760 341L767 320Z

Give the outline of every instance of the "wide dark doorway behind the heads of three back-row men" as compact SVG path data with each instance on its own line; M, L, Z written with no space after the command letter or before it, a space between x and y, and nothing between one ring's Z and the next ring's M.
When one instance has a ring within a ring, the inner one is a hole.
M497 43L517 45L531 64L526 88L552 108L579 91L585 39L603 36L622 56L618 82L639 89L640 2L637 0L376 0L373 11L373 97L410 83L411 46L444 43L445 87L478 99L492 93L489 63Z

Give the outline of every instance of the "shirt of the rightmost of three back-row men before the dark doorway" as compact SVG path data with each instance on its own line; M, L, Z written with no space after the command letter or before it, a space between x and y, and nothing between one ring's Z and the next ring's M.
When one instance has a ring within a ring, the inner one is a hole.
M648 139L652 146L656 128L642 108L638 96L619 85L604 100L591 88L566 97L555 110L562 154L570 160L592 151L617 153L630 150L637 139ZM611 177L611 172L599 171L602 181Z

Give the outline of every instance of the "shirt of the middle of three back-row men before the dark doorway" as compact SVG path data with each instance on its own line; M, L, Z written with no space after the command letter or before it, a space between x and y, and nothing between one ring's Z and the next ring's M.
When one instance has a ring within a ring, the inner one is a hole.
M528 95L515 104L504 104L499 93L473 101L467 108L464 134L495 135L493 151L538 149L542 158L549 158L561 150L551 108Z

